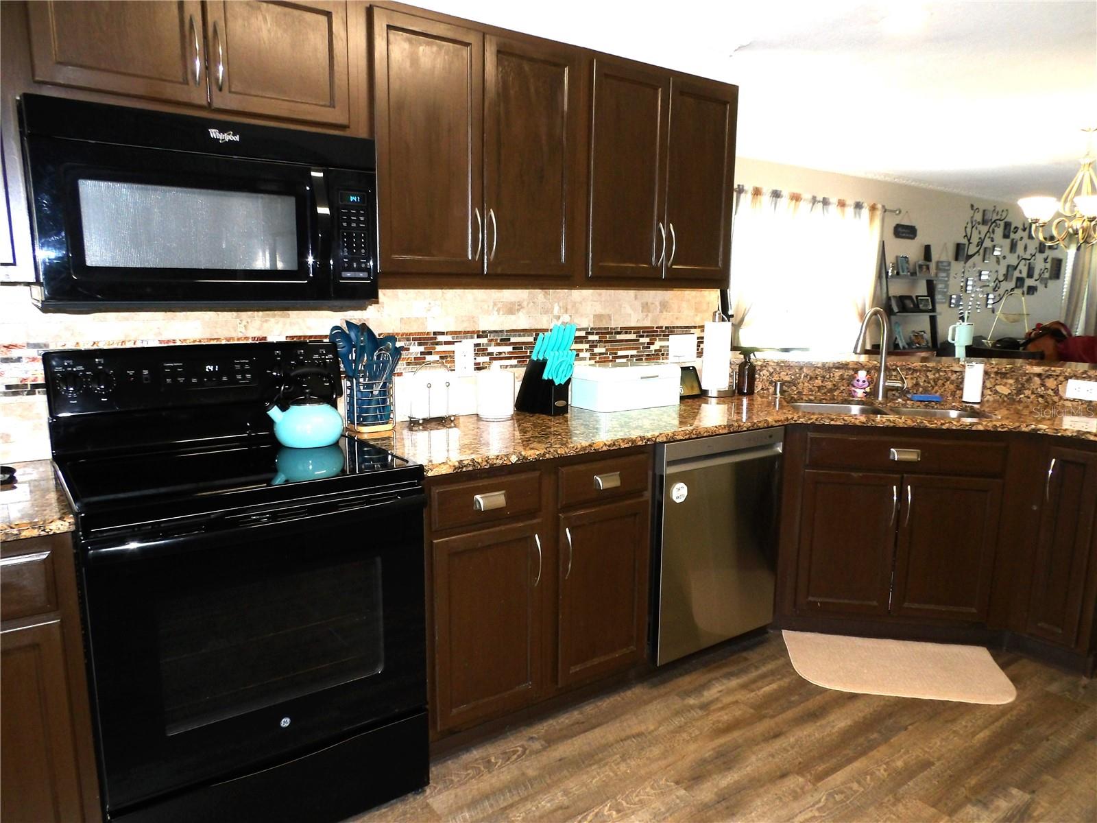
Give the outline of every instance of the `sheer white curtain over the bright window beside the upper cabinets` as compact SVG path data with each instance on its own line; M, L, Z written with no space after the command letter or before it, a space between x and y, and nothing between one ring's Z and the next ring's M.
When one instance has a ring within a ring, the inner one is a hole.
M873 305L880 208L755 188L735 216L737 342L849 351Z

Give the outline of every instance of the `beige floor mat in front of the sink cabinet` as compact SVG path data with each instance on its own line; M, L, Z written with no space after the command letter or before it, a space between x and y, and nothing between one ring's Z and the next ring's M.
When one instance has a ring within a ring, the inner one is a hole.
M796 673L816 686L862 695L1013 702L1017 689L981 646L785 631Z

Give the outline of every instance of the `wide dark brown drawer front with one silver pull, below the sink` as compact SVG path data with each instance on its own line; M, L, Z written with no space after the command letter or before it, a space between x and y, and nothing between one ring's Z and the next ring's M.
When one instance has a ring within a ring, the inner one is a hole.
M891 435L807 436L807 465L866 472L951 472L1000 475L1007 447L965 437Z

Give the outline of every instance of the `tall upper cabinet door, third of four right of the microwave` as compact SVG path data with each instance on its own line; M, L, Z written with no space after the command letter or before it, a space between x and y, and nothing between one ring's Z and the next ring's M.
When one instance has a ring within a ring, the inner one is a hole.
M590 277L661 278L669 75L595 60Z

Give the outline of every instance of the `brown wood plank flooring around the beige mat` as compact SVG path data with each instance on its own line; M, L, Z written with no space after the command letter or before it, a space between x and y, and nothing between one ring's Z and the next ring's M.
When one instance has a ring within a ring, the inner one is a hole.
M354 823L1097 821L1097 685L995 657L1007 706L850 695L770 634L453 753Z

